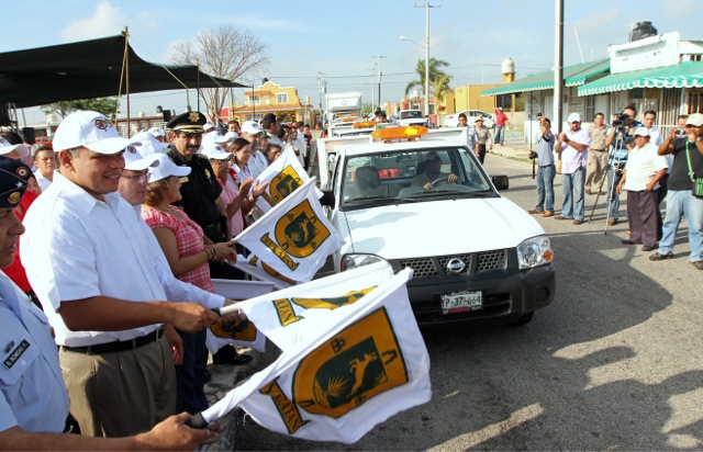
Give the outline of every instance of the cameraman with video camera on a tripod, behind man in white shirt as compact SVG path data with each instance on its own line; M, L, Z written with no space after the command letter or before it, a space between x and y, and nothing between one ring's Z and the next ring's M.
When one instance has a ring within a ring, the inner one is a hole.
M627 154L635 147L635 131L641 127L641 123L635 121L637 110L634 105L627 105L623 113L615 116L607 128L605 146L610 149L607 155L607 225L615 226L620 217L620 195L615 188L620 183L627 163Z

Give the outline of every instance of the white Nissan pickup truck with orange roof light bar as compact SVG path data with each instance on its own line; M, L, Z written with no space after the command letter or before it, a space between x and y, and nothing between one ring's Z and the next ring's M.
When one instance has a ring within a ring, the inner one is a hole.
M491 179L465 134L393 127L317 142L321 202L345 240L335 271L412 268L420 325L524 325L555 296L550 241L498 192L507 177Z

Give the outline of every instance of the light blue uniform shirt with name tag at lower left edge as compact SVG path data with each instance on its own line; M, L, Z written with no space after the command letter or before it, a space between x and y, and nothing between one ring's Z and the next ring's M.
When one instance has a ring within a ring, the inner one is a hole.
M0 431L60 433L68 395L44 313L0 272Z

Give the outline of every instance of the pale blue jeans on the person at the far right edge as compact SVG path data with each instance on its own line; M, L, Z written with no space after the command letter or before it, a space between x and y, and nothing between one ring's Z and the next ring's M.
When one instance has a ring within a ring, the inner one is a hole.
M703 199L693 196L691 190L669 190L667 196L667 216L663 218L659 253L668 255L673 251L681 215L685 215L691 245L689 259L691 262L703 260Z

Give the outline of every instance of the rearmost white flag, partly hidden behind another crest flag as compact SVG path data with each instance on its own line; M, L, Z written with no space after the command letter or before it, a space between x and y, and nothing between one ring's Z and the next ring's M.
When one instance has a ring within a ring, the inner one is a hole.
M261 213L267 213L276 204L280 203L310 180L310 176L303 169L298 156L292 148L287 148L271 165L269 165L257 178L259 184L268 182L268 188L256 199L256 207ZM317 197L322 192L317 193Z

